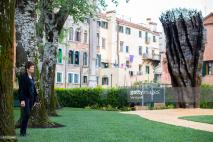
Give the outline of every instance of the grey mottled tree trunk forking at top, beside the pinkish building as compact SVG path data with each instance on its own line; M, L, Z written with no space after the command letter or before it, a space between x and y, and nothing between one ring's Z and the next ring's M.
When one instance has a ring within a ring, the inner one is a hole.
M63 25L68 17L68 13L60 9L58 13L54 13L53 9L44 10L44 27L45 27L45 46L43 54L43 64L41 71L41 82L44 90L46 107L49 115L57 115L54 83L56 69L56 55L58 48L58 37Z

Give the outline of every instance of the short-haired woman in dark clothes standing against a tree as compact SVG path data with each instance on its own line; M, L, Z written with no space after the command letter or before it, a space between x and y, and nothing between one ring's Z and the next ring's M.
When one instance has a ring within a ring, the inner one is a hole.
M32 107L37 105L38 102L38 94L32 77L33 73L34 64L28 61L25 65L25 73L19 79L19 100L22 109L20 136L26 136L30 112Z

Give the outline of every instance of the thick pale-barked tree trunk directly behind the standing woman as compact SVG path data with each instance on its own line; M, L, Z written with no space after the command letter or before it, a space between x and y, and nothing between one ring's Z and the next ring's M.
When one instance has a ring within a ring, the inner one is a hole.
M40 74L38 68L38 47L36 46L36 11L35 0L20 0L16 7L16 70L17 76L24 72L27 61L36 64L35 80L39 94L40 107L33 111L29 122L30 127L48 127L49 119L45 109L43 91L40 88ZM20 122L20 120L19 120ZM17 123L17 125L19 124Z

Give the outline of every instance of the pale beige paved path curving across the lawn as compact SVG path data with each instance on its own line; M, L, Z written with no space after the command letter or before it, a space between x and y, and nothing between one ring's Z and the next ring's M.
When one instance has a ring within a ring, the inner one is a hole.
M128 111L128 112L121 112L121 113L136 114L143 118L153 120L153 121L213 132L213 124L178 119L178 117L181 117L181 116L213 115L213 109L137 110L137 111Z

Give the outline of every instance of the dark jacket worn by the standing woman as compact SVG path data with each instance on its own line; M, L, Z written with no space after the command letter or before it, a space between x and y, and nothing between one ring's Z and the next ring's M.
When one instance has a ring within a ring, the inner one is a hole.
M33 99L34 103L38 102L38 93L36 91L36 87L35 85L33 85L34 93L32 94L30 84L31 82L28 74L27 73L22 74L19 78L19 90L18 90L20 101L25 99Z

